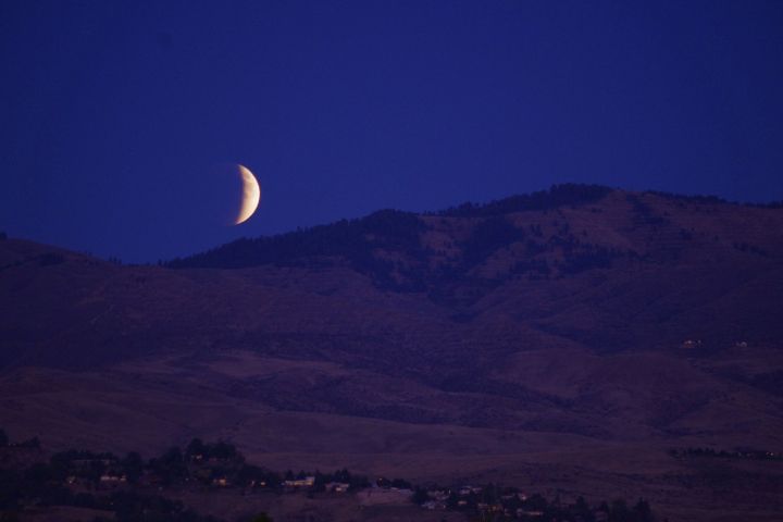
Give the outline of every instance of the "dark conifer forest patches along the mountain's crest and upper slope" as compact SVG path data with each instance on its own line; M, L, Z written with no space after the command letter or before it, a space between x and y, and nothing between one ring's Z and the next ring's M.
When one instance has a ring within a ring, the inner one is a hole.
M169 268L238 269L272 264L278 266L323 268L347 262L353 270L370 276L382 288L396 291L428 291L434 299L451 299L444 285L476 281L484 276L470 271L493 253L517 241L526 240L531 259L489 277L480 286L490 288L510 276L548 277L552 268L546 259L533 259L545 252L562 250L564 274L611 265L617 257L609 249L580 244L568 222L560 224L555 236L545 240L540 224L530 231L514 226L504 214L525 210L547 210L576 206L601 199L611 191L596 185L556 185L549 190L514 196L483 206L465 203L430 215L480 219L470 236L458 244L461 256L437 264L436 253L422 243L425 222L409 212L384 210L358 220L298 229L293 233L256 239L239 239L203 253L164 263ZM443 252L442 252L443 253ZM484 277L485 278L485 277ZM480 297L483 293L478 293Z

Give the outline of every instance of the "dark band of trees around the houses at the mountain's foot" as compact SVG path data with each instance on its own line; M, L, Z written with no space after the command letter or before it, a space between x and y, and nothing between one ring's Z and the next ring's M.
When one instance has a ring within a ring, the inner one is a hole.
M3 432L0 430L0 434ZM21 445L14 445L21 448ZM7 449L8 451L8 449ZM39 451L39 450L38 450ZM189 509L171 492L183 488L241 488L245 494L302 492L308 495L340 495L366 488L398 490L411 502L425 509L456 510L483 520L511 521L582 520L593 522L606 511L610 521L651 522L649 505L639 500L627 508L624 500L591 507L583 498L573 504L549 501L540 495L527 496L514 487L414 486L402 478L380 477L371 484L366 477L348 470L334 473L287 471L283 474L247 464L236 447L224 440L206 444L195 438L185 451L176 447L146 463L136 452L119 458L111 452L69 450L48 460L39 453L27 467L0 468L0 517L13 520L28 508L46 509L71 506L103 511L103 520L162 522L219 522ZM488 519L486 519L489 517ZM271 521L265 512L241 515L238 521Z

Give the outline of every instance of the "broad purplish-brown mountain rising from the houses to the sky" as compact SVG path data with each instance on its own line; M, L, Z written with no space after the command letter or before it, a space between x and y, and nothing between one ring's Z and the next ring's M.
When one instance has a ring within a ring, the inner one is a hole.
M783 448L781 295L780 204L599 186L162 266L5 239L0 418L54 446L199 435L278 468L624 488L688 520L716 520L718 473L773 520L778 464L667 450Z

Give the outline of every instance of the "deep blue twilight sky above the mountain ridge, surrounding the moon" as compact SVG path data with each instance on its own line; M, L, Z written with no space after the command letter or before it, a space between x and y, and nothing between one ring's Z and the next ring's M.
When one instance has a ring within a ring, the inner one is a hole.
M562 182L783 199L780 1L4 0L0 65L0 231L125 261Z

